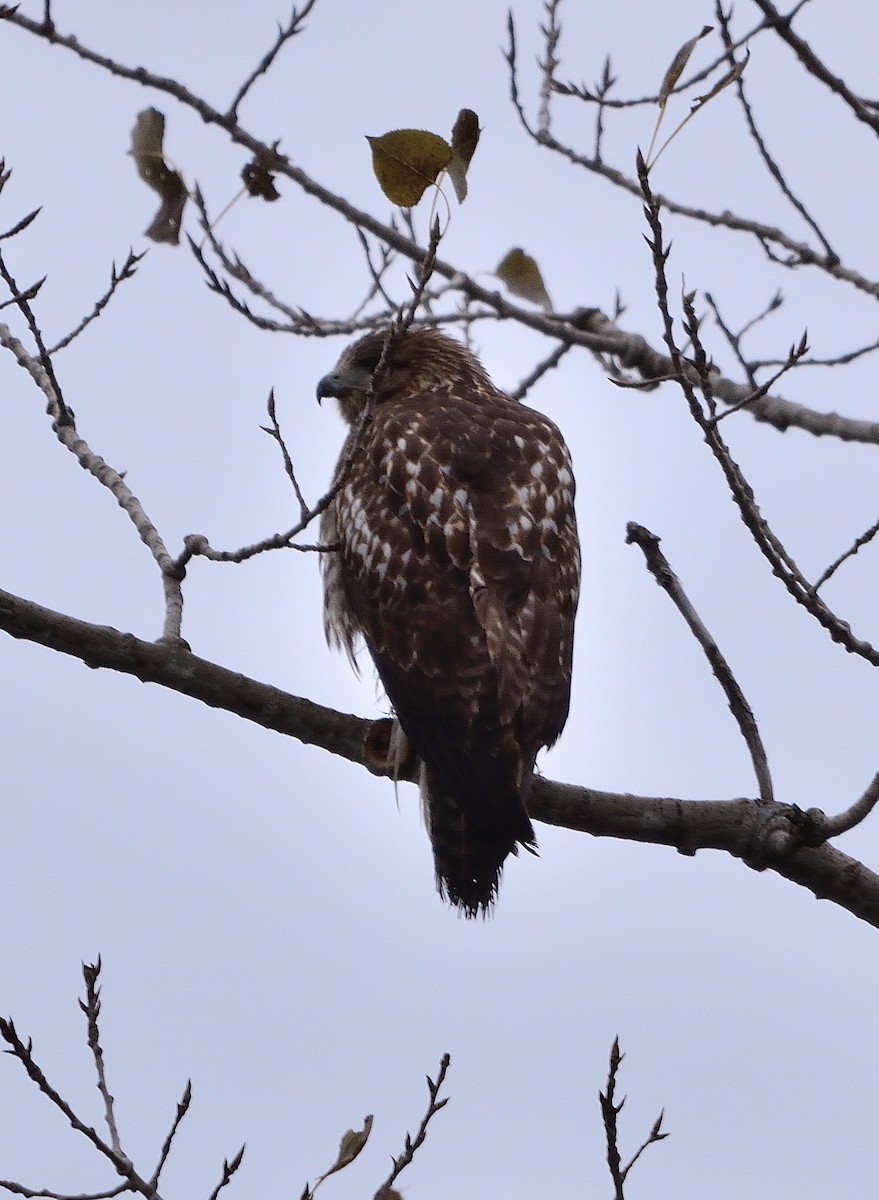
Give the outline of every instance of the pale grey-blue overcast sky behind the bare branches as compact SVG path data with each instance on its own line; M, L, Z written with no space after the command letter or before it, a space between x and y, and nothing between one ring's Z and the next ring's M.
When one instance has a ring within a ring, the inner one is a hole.
M22 12L42 16L24 0ZM534 148L518 126L501 55L501 0L318 0L243 106L241 120L312 178L388 217L364 134L447 133L461 107L483 137L470 197L452 200L442 257L491 283L515 245L537 257L558 310L612 310L658 347L640 203ZM533 112L537 0L516 0L522 94ZM271 43L277 0L59 2L62 31L178 78L222 108ZM612 56L621 96L654 91L710 4L561 8L561 76L593 83ZM740 31L758 20L737 6ZM801 25L800 25L801 23ZM797 28L855 90L875 94L873 0L813 0ZM717 43L701 43L710 61ZM874 137L754 42L747 79L770 145L844 263L875 278ZM20 286L48 275L37 312L53 342L102 293L156 198L126 157L136 114L167 116L166 149L214 211L241 152L167 96L110 78L0 24L0 154L13 168L0 228L38 221L4 254ZM681 109L681 115L686 104ZM560 132L591 148L592 114L560 103ZM632 172L651 109L609 121L606 155ZM865 166L866 164L866 166ZM806 238L757 163L731 94L692 121L654 184L686 203L783 223ZM353 230L279 184L240 202L219 233L267 286L317 316L365 289ZM426 228L430 206L417 210ZM187 228L195 233L192 217ZM777 288L784 306L755 350L783 356L808 326L815 355L875 337L875 305L759 246L670 220L672 292L711 292L732 326ZM400 299L402 274L395 277ZM700 307L705 305L700 301ZM0 319L16 322L10 310ZM546 343L477 329L480 356L515 388ZM706 323L710 349L735 364ZM316 380L342 341L259 332L210 294L185 248L151 246L101 320L58 356L83 437L125 470L177 552L190 533L235 548L292 524L294 498L261 432L274 388L301 485L325 490L343 436ZM875 365L801 372L779 390L875 419ZM585 587L572 714L543 760L554 779L688 799L753 796L747 752L678 614L624 544L627 521L663 548L757 714L777 798L837 811L879 769L879 678L788 599L749 540L681 396L621 391L572 353L530 402L570 445ZM725 422L777 532L817 575L877 517L875 448ZM0 358L0 586L153 638L157 571L112 497L52 436L41 396ZM875 547L827 600L875 642ZM323 641L317 562L275 553L196 562L184 636L227 667L342 712L385 712ZM671 1136L629 1183L638 1196L773 1200L866 1195L879 1170L875 930L779 877L718 853L590 839L539 826L539 859L508 865L497 913L465 922L433 888L417 796L325 752L178 695L0 642L0 1013L32 1036L49 1079L86 1121L101 1109L76 998L103 956L103 1042L124 1145L149 1174L185 1081L193 1106L163 1194L208 1195L247 1142L239 1196L297 1196L345 1129L376 1115L371 1142L324 1184L371 1195L426 1104L424 1076L452 1055L441 1112L402 1177L407 1200L611 1194L597 1104L616 1034L627 1058L623 1151L662 1108ZM875 821L841 839L879 862ZM78 1192L115 1182L8 1057L0 1060L0 1177Z

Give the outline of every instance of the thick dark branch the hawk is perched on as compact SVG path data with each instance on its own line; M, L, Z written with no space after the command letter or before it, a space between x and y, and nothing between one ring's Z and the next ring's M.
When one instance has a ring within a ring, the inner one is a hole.
M377 770L367 745L376 722L291 696L199 659L181 644L145 642L8 592L0 592L0 629L82 659L86 666L160 684ZM672 846L683 854L723 850L754 870L777 871L879 928L879 876L831 846L811 844L820 840L823 814L747 799L620 796L545 779L534 781L528 806L537 821L596 838Z

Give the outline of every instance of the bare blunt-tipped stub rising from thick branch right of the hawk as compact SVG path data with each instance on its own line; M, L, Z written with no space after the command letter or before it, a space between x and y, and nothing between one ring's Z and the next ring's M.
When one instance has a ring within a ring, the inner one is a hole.
M671 598L675 607L687 622L690 632L705 652L705 656L711 665L711 671L723 689L726 703L736 719L739 730L745 738L745 744L748 748L748 754L751 755L751 761L754 766L754 774L757 775L760 799L765 804L771 803L773 799L772 776L770 775L769 760L766 758L766 750L764 749L763 739L760 738L760 731L757 727L757 721L754 720L751 706L745 698L745 694L739 686L729 664L720 653L720 648L705 628L699 613L695 611L689 601L689 598L683 590L681 581L671 570L668 559L659 550L659 539L657 535L651 533L650 529L645 529L644 526L635 524L633 521L626 527L626 541L629 545L640 547L647 563L647 570L657 581L659 587Z

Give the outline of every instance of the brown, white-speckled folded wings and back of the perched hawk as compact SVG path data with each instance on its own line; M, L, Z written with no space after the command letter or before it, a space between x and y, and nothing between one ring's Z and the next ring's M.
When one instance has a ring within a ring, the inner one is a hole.
M397 719L503 857L568 710L579 552L567 450L500 392L378 406L335 503L336 564ZM330 564L330 570L333 569Z

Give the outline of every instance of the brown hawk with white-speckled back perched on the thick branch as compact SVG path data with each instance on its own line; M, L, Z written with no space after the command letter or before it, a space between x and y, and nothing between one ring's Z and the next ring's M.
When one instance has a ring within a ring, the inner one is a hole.
M351 426L322 526L337 546L322 556L327 638L352 661L366 643L420 761L440 893L485 914L507 856L536 846L534 760L568 715L570 458L552 421L432 329L367 334L317 395Z

